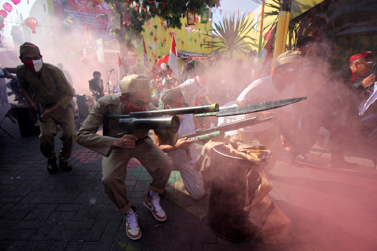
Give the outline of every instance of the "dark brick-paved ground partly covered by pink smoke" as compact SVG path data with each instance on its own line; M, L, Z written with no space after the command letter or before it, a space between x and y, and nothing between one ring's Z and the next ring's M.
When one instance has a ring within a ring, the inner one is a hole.
M0 119L9 108L0 106ZM347 157L359 164L352 170L329 168L323 149L311 152L303 167L278 160L269 174L270 195L290 218L290 234L246 242L225 240L211 230L210 195L190 199L179 172L172 172L161 200L167 221L158 225L142 205L150 176L132 160L125 182L142 230L141 239L133 241L126 236L125 218L103 192L101 156L75 145L73 170L49 174L37 135L21 137L18 123L8 118L0 126L14 137L0 138L0 250L377 250L377 171L365 156ZM55 140L58 152L61 142Z

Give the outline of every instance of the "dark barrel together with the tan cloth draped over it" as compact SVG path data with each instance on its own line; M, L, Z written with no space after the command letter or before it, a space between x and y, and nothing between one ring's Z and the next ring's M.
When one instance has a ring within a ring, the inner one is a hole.
M266 146L233 135L205 144L196 167L205 155L211 169L208 224L216 234L244 241L256 234L288 233L290 220L272 202L269 192L273 184L262 170L271 157ZM204 168L208 168L206 164Z

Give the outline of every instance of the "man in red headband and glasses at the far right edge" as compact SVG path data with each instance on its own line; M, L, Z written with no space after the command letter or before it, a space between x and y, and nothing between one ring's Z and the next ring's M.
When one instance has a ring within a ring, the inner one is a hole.
M359 126L360 118L357 106L366 94L366 88L375 81L375 75L368 73L375 64L372 52L363 52L351 56L349 67L335 72L328 78L331 92L334 96L331 111L336 111L334 124L330 125L332 140L331 168L354 168L356 163L344 160L344 145L351 132ZM367 76L368 75L368 76ZM358 78L363 78L357 83Z

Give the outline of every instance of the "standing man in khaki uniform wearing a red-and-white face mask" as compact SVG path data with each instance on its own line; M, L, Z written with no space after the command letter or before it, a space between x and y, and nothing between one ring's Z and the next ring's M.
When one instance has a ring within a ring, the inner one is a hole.
M42 105L44 122L39 122L39 140L41 152L48 158L47 170L50 173L58 170L54 136L57 135L57 125L60 125L63 146L58 154L59 166L68 172L72 166L67 160L76 141L75 119L69 103L73 97L72 88L58 67L42 62L40 50L34 44L26 42L20 46L20 59L23 65L17 66L16 75L21 94L34 113L37 113L37 104ZM34 94L31 94L30 87Z

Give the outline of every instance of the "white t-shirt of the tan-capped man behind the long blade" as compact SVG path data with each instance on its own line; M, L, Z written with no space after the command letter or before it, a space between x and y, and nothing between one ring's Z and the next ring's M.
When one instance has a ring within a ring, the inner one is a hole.
M279 92L278 90L276 90L272 83L272 77L268 76L265 78L257 79L256 81L251 83L245 90L242 91L241 94L239 94L237 101L241 103L260 103L279 99L291 99L293 98L293 94L293 84L286 85L284 90L282 92ZM281 111L292 111L292 106L287 105L277 109ZM274 109L273 111L276 111L276 109ZM248 119L257 115L257 113L242 114L237 116L237 120ZM260 117L259 119L262 118ZM240 130L242 132L259 132L268 129L271 126L273 126L273 122L270 120L264 123L241 128Z

